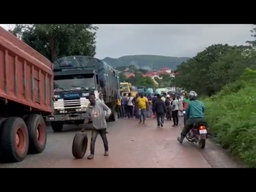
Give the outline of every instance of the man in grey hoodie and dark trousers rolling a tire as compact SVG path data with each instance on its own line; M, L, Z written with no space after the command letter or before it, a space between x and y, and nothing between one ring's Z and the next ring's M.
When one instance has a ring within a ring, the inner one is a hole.
M89 101L90 104L88 105L86 109L86 117L84 119L84 128L81 130L84 132L86 125L88 124L89 120L92 120L93 129L92 129L92 136L91 136L91 144L90 144L90 152L91 154L87 157L88 159L94 158L94 147L95 142L98 134L100 134L104 148L105 153L104 156L108 156L108 140L106 136L106 128L107 128L107 122L106 119L109 118L111 115L111 110L101 101L96 101L95 94L90 93L89 95ZM104 111L106 111L106 116Z

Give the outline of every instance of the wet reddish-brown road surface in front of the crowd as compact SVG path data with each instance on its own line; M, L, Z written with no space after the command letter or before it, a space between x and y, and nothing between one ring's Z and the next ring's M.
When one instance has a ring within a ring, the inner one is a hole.
M180 118L182 120L182 118ZM72 142L81 127L66 126L61 133L48 128L47 145L41 154L28 155L23 162L0 164L0 168L241 168L225 150L210 140L206 148L199 149L186 139L178 143L181 127L172 127L165 121L157 128L155 119L146 124L138 120L119 119L108 123L109 156L105 157L103 142L98 135L93 160L90 153L90 131L88 148L83 159L72 156ZM91 126L91 125L90 125Z

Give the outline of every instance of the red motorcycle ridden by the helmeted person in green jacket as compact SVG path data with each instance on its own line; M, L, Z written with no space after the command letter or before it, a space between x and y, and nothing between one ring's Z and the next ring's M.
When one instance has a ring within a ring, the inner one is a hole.
M185 112L183 112L185 114ZM186 139L192 143L198 143L201 149L205 148L207 139L206 122L198 122L193 125L193 128L186 135Z

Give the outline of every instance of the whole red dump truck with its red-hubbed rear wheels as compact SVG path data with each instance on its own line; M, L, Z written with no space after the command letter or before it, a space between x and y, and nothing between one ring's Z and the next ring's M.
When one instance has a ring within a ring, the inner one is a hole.
M46 146L52 63L0 27L0 160L20 162Z

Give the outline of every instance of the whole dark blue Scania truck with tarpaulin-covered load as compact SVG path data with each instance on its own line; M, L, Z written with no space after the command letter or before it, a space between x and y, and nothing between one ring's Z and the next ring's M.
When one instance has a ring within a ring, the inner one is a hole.
M100 59L89 56L68 56L54 62L54 114L48 116L54 132L64 124L82 124L93 92L96 100L103 94L111 109L110 121L116 121L116 101L120 98L118 72Z

